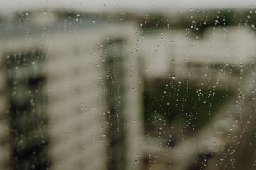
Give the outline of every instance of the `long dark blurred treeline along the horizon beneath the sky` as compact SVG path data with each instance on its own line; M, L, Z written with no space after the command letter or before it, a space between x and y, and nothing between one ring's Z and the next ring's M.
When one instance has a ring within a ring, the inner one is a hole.
M136 13L132 11L102 11L90 13L74 10L54 11L18 11L15 18L18 21L28 21L33 14L51 13L60 19L92 18L106 23L129 22L137 23L142 30L186 29L194 37L203 37L208 27L248 25L255 30L256 13L254 8L220 9L220 10L191 10L178 13ZM1 20L0 20L1 21Z

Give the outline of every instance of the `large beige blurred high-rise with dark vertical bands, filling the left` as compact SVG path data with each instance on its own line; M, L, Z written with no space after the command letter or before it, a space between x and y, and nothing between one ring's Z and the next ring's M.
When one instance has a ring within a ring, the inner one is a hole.
M20 16L0 30L0 169L139 169L136 29Z

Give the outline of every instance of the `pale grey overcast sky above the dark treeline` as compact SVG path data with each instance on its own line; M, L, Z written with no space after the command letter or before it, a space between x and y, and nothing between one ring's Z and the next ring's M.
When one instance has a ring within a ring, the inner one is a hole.
M250 8L256 0L0 0L0 11L31 8L77 8L82 11L181 11L192 8Z

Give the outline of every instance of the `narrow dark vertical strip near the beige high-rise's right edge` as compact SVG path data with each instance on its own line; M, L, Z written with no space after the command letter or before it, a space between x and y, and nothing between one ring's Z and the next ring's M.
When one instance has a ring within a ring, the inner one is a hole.
M107 69L108 169L124 170L124 53L123 41L112 40L105 47Z

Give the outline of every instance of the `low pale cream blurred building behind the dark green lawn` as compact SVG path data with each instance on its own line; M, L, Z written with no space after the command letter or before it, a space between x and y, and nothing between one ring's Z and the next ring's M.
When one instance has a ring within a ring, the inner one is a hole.
M188 30L169 30L144 35L139 55L146 79L191 79L232 85L255 57L255 32L249 26L208 28L201 38ZM145 71L146 70L146 71ZM231 83L233 82L233 83Z

